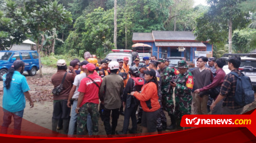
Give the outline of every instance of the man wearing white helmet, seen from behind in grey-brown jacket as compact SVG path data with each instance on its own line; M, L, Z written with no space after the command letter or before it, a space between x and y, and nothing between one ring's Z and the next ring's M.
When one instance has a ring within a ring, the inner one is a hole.
M100 100L104 104L103 122L106 135L114 135L118 125L119 109L121 107L121 94L123 94L123 78L116 74L119 70L119 63L109 63L110 75L103 78L100 87ZM110 125L110 113L112 111L112 126Z

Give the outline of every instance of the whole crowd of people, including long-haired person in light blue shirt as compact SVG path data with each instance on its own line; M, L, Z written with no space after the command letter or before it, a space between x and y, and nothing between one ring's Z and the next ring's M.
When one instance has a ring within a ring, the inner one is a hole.
M84 135L86 130L89 135L98 135L99 117L106 135L136 134L139 123L142 133L157 134L182 129L180 121L185 114L241 114L243 109L234 101L237 77L225 74L222 67L226 63L221 58L200 56L192 70L184 60L169 67L168 60L155 56L143 57L145 64L136 58L132 67L127 65L128 57L116 61L105 58L98 64L95 55L86 52L84 59L82 62L73 59L69 66L63 59L57 62L58 70L51 81L55 88L62 84L62 91L54 95L54 134L63 128L69 136ZM240 57L232 56L228 67L239 75L240 63ZM20 134L25 97L31 108L34 106L22 75L25 64L15 61L3 76L2 134L6 134L12 116L15 116L14 134ZM123 128L116 130L120 114L124 115ZM128 128L130 118L131 129ZM167 120L171 121L169 126Z

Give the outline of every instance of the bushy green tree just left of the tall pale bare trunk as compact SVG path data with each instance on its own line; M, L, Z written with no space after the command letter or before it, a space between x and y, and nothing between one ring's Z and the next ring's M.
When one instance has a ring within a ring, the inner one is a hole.
M113 41L114 9L104 11L103 8L94 9L86 16L82 15L74 23L74 30L70 32L65 41L67 52L76 49L82 56L85 51L97 53L97 49L103 49L105 40Z

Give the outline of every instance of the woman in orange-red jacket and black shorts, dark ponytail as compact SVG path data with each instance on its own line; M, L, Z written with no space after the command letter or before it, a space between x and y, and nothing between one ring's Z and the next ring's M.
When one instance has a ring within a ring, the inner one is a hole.
M141 93L131 92L131 95L140 100L143 109L142 113L142 133L157 134L157 117L159 115L160 104L157 96L157 79L154 69L145 70L146 84L142 87Z

